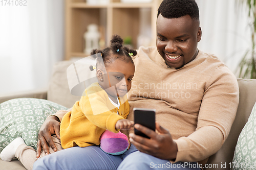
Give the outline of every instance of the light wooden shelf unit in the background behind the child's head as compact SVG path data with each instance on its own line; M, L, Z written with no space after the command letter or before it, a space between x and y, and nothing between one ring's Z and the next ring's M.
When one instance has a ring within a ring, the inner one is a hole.
M162 0L152 0L152 3L120 3L120 0L110 0L106 5L90 5L84 0L66 0L66 41L65 58L87 57L83 53L85 41L83 38L87 27L95 23L101 28L105 45L113 34L122 38L131 37L132 46L137 48L137 39L141 34L141 9L150 11L149 29L151 30L151 45L156 41L157 9Z

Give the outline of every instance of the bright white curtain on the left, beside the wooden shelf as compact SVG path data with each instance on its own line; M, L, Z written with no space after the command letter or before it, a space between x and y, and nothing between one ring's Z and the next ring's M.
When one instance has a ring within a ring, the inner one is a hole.
M63 60L63 6L63 0L0 4L0 96L47 88L53 64Z

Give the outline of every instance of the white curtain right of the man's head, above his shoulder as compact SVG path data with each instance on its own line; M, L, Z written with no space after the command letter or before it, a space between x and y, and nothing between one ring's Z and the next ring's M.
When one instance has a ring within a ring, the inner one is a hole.
M198 48L215 54L238 76L238 64L251 44L245 6L238 5L237 0L196 2L202 28Z

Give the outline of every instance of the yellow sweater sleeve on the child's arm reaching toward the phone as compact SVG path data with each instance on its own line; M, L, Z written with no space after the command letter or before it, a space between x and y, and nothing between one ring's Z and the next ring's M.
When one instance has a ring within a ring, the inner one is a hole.
M123 117L117 114L117 108L114 105L108 106L104 97L98 92L89 94L89 97L83 96L80 100L80 108L90 122L97 127L118 133L119 130L115 128L116 122Z

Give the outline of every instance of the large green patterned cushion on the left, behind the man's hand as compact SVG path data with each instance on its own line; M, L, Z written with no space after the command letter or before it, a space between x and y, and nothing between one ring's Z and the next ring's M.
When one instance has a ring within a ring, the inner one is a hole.
M0 104L0 152L22 137L36 149L37 134L47 116L68 108L43 99L19 98Z

